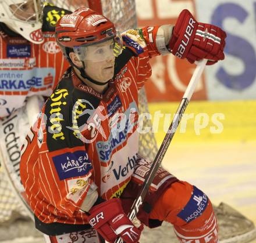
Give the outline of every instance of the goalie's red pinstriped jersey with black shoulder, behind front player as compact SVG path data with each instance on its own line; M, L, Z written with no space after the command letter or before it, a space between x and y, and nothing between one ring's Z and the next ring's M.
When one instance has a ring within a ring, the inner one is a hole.
M64 9L45 6L42 34L36 45L0 23L0 118L24 105L27 96L49 96L69 66L55 42L55 24Z

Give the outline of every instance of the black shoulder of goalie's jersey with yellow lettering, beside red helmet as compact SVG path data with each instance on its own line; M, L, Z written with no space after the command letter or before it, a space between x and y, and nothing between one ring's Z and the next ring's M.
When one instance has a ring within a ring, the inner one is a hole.
M61 17L67 13L72 13L69 10L58 8L51 3L46 3L42 14L42 31L55 32L55 26Z

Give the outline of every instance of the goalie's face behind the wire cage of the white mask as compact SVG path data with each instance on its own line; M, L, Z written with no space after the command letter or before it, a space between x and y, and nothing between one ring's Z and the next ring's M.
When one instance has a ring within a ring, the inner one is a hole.
M37 1L37 8L40 8L40 0ZM13 15L23 21L34 21L35 20L35 9L34 0L21 1L18 4L10 5Z

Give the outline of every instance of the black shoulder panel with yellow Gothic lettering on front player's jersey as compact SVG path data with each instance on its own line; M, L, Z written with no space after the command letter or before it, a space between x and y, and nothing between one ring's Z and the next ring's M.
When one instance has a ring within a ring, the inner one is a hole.
M88 141L88 124L93 121L100 103L95 96L76 88L70 70L63 75L45 103L47 143L51 151L81 146Z

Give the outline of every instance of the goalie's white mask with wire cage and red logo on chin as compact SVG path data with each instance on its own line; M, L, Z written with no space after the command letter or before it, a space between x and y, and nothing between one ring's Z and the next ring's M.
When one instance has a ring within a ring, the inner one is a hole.
M0 0L0 22L28 41L40 44L42 36L41 0Z

